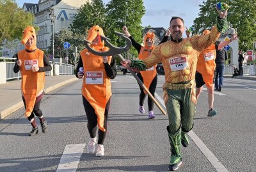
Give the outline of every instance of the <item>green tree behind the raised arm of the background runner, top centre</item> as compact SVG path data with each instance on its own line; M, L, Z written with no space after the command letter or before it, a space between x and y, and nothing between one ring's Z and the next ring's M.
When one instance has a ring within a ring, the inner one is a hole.
M141 18L145 14L145 7L142 0L112 0L107 6L106 35L111 39L111 43L118 47L124 47L123 39L118 38L114 31L122 32L122 27L127 26L129 32L136 41L142 43ZM131 48L124 57L131 59L132 56L138 57L135 48ZM117 64L120 59L116 58Z

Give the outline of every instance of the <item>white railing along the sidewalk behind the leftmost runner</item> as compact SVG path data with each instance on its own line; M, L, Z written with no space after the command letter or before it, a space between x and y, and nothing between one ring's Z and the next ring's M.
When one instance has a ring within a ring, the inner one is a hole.
M20 72L14 73L15 58L0 57L0 84L6 83L8 80L20 79ZM53 64L52 68L53 68ZM74 65L55 62L55 75L73 75ZM45 75L52 76L53 69L45 72Z

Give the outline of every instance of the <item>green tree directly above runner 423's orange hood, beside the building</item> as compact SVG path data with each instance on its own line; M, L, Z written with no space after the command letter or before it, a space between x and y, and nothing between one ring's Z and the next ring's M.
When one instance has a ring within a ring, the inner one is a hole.
M106 20L106 8L102 0L87 2L81 6L76 15L76 19L71 25L71 31L84 34L93 25L104 28Z

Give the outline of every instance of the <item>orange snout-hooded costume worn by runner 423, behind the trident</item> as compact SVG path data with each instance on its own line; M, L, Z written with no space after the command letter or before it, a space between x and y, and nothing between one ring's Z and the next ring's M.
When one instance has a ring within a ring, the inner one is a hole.
M109 48L104 47L104 41L100 40L100 35L104 36L104 32L99 25L95 25L88 32L87 40L93 41L93 39L98 38L98 44L90 46L97 51L108 51ZM106 104L112 95L110 79L104 69L101 56L93 55L88 52L87 49L81 51L80 55L84 67L82 94L95 110L99 129L101 131L106 131L106 129L104 129L104 113ZM108 57L109 64L111 58L111 56Z

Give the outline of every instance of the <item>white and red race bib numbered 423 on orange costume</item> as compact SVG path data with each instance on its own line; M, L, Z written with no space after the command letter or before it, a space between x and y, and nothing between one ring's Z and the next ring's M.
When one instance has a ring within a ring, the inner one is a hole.
M103 72L86 71L84 79L86 84L103 84Z

